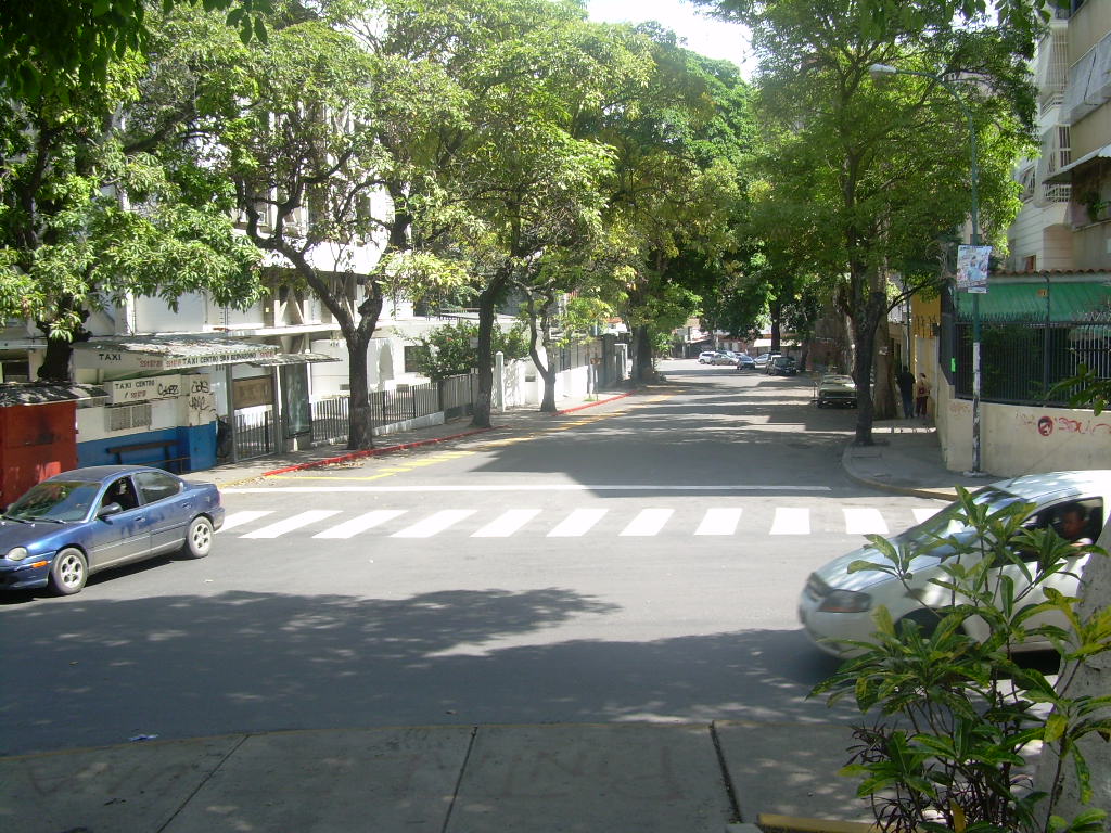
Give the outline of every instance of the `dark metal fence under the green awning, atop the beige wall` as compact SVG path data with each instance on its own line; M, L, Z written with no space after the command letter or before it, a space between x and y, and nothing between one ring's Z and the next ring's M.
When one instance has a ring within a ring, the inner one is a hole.
M957 395L972 397L972 323L955 322L953 382ZM981 318L981 399L1005 404L1068 403L1070 390L1049 395L1075 377L1080 365L1111 378L1111 321L1044 322Z

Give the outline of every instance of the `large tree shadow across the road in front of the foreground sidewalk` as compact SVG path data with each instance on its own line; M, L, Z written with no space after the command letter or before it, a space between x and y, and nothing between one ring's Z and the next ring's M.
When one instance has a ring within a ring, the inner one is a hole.
M19 673L2 753L137 734L850 716L805 700L835 663L797 631L560 641L560 624L615 611L559 588L39 600L3 613Z

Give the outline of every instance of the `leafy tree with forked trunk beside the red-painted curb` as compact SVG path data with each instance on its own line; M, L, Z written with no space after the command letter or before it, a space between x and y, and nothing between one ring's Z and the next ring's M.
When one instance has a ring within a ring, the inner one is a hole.
M460 96L442 67L420 60L446 32L412 8L277 9L269 41L243 49L229 80L232 116L213 159L234 182L247 235L320 298L343 334L352 449L373 444L367 351L386 299L463 279L458 263L413 240L414 222L432 227L442 205L430 137L460 118ZM376 14L382 27L361 31Z

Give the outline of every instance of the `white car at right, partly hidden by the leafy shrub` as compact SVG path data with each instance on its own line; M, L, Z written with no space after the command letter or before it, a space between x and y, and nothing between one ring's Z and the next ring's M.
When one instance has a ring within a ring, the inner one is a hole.
M1062 538L1078 544L1075 556L1067 560L1063 570L1033 589L1023 600L1023 605L1047 601L1048 588L1068 596L1077 594L1078 576L1081 575L1089 558L1082 545L1090 544L1099 536L1105 519L1105 509L1111 501L1111 471L1050 472L1001 480L977 491L973 499L978 505L987 506L989 511L998 511L1018 501L1033 503L1034 509L1023 525L1038 529L1052 526ZM938 538L971 539L975 534L974 530L960 518L960 503L950 503L932 518L911 526L891 541L897 546L905 546L915 543L928 544L935 542ZM1077 526L1079 534L1070 533L1070 526L1073 525ZM994 569L999 576L991 581L992 586L1003 585L1002 578L1008 576L1013 582L1015 594L1030 588L1029 574L1037 569L1038 553L1020 553L1020 555L1029 566L1023 569L1011 562L1001 564ZM937 615L929 609L941 608L950 602L949 591L930 581L947 578L942 570L942 560L947 556L950 560L960 558L965 568L971 568L973 559L978 558L965 554L954 556L949 544L923 551L911 562L913 574L909 581L910 586L903 586L898 579L888 573L849 572L849 565L854 561L890 564L872 546L853 550L810 574L799 596L799 620L814 644L834 656L851 656L857 651L853 645L845 644L844 640L870 639L877 630L872 615L880 605L888 609L895 623L914 621L929 632L938 621ZM1054 616L1061 619L1057 620ZM1037 626L1048 622L1063 625L1063 615L1059 611L1043 612L1029 620L1027 625ZM973 639L982 641L989 635L987 623L979 618L967 620L963 626L968 635ZM1011 645L1011 649L1033 651L1047 646L1048 644L1043 642L1028 641Z

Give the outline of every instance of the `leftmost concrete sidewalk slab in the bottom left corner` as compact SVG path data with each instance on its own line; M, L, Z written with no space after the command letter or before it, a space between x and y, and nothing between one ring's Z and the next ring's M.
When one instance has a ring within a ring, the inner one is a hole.
M162 830L243 735L0 759L0 830Z

